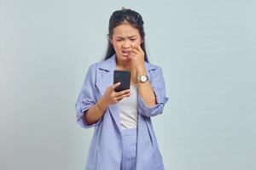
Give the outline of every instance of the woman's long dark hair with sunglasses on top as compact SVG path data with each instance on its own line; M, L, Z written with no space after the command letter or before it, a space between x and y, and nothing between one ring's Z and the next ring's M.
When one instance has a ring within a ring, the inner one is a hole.
M131 10L130 8L122 8L121 10L114 11L110 16L109 25L108 25L108 48L103 60L109 59L113 54L115 54L113 44L109 41L109 38L113 36L113 28L122 24L124 20L127 20L131 26L137 28L140 36L143 39L141 47L145 54L144 60L148 62L148 55L145 48L145 31L143 27L143 17L138 14L136 11Z

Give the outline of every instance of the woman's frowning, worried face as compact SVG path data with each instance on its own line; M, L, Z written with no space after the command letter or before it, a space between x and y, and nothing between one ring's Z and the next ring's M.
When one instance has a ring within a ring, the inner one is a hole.
M131 26L128 21L113 28L113 37L110 38L113 44L117 59L119 61L129 60L131 46L137 47L143 42L137 28Z

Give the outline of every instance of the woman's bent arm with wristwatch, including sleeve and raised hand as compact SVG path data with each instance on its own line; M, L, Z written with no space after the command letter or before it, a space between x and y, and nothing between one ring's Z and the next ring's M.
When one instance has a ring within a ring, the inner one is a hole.
M141 46L132 47L130 57L137 70L137 76L146 73L144 65L144 52ZM166 87L160 67L150 70L151 83L139 82L138 86L138 113L142 116L156 116L163 112L166 98Z

